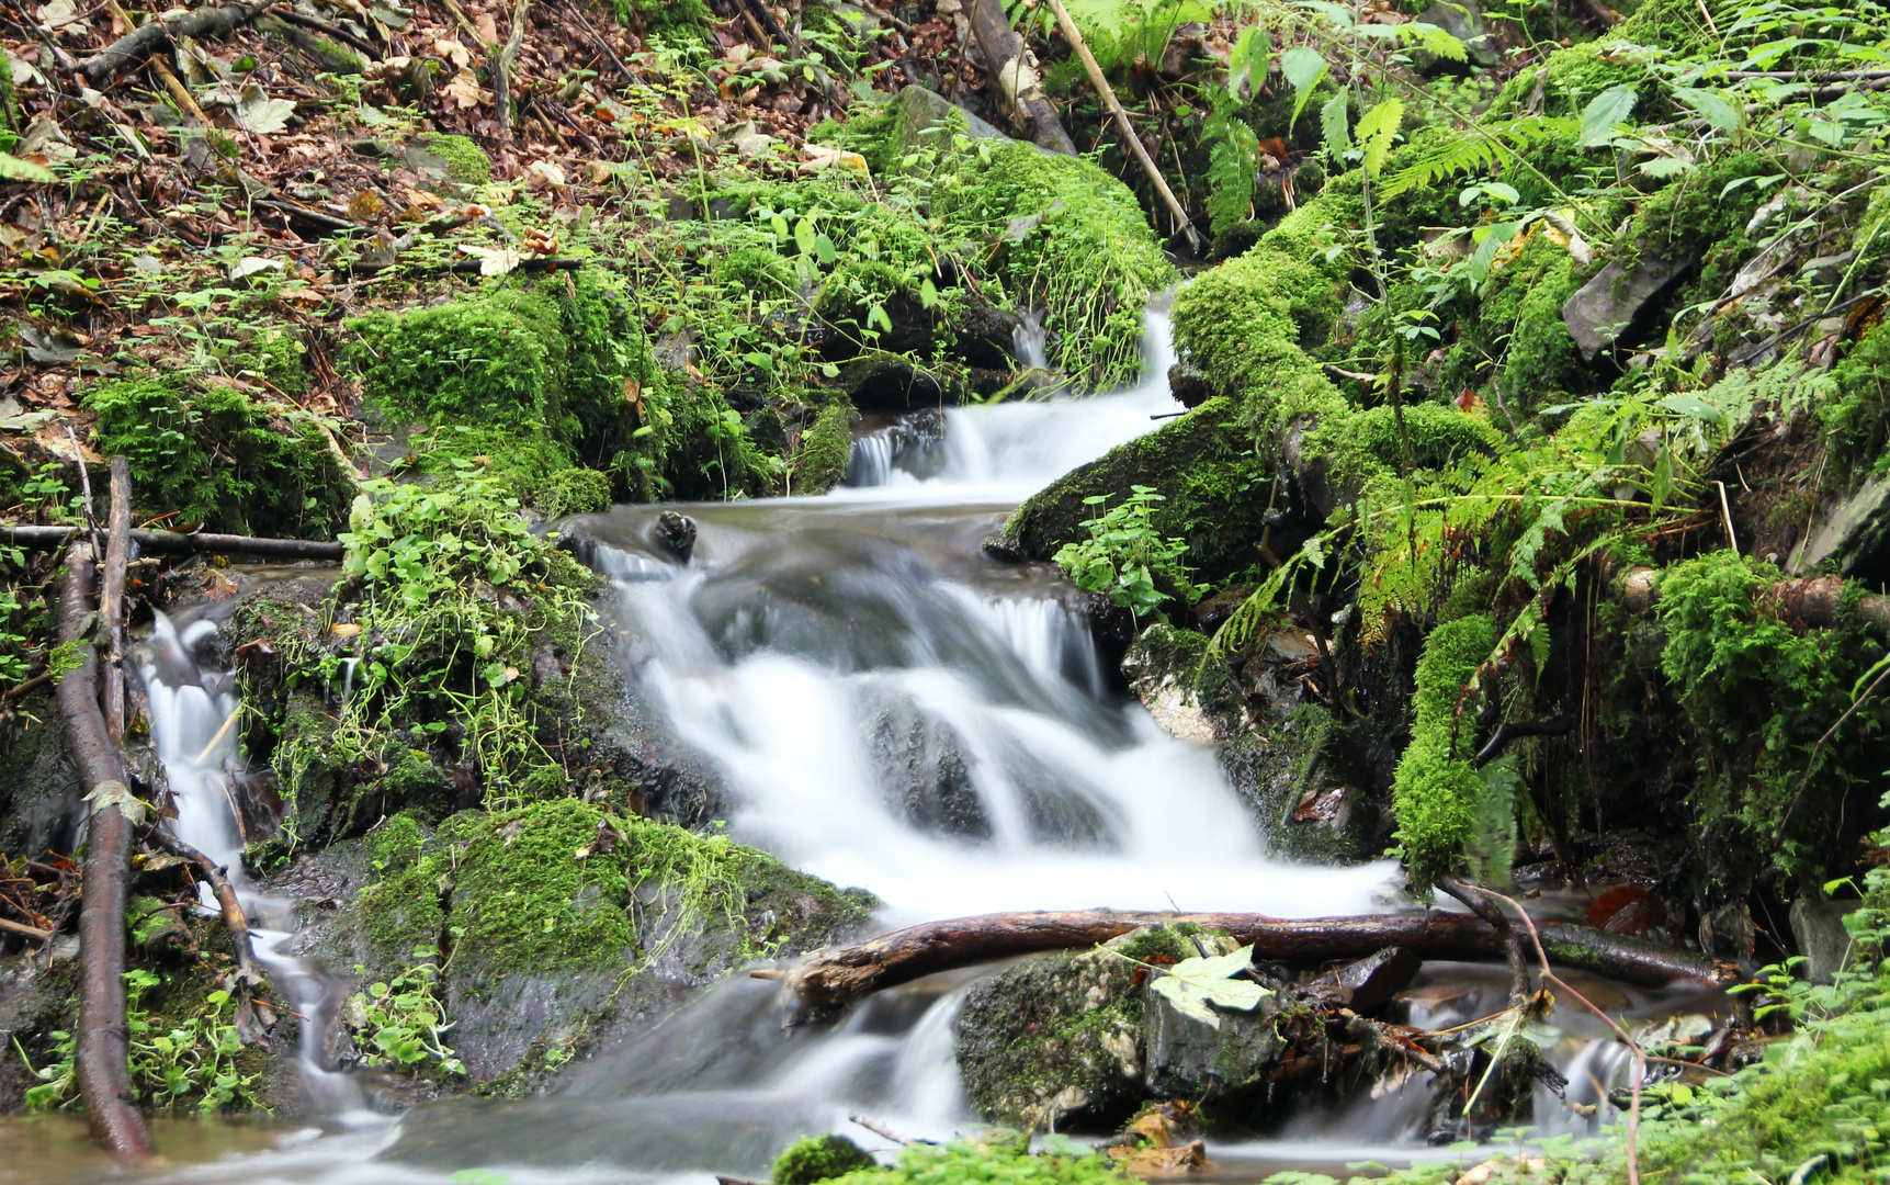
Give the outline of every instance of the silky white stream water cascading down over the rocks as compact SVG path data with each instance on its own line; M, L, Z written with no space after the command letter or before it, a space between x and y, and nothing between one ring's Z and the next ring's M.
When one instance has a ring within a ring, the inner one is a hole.
M1041 335L1021 348L1041 359ZM1385 907L1389 866L1268 858L1215 754L1170 739L1111 690L1055 569L1002 563L979 546L1017 501L1177 410L1168 363L1164 319L1151 314L1147 380L1134 389L949 408L943 433L909 431L903 446L900 425L868 425L852 484L828 497L684 507L697 524L688 563L654 542L654 508L571 524L612 576L609 612L633 680L671 743L718 773L739 839L873 890L886 928L998 909ZM212 629L159 618L144 675L178 830L234 862L223 777L236 762L225 728L236 701L227 678L197 661ZM253 892L248 903L268 951L284 903ZM333 1002L312 968L268 958L299 1011L327 1015ZM157 1179L435 1185L491 1170L516 1185L707 1185L711 1174L765 1176L807 1132L888 1149L850 1128L849 1111L949 1138L977 1126L954 1066L954 1021L966 987L988 971L937 975L864 1002L837 1026L792 1032L771 983L731 979L571 1070L550 1098L427 1104L399 1119L365 1113L310 1043L318 1121L221 1125L208 1142L202 1128L164 1125L164 1145L189 1164ZM1487 968L1427 968L1412 1022L1486 1015L1503 988ZM1629 1015L1675 1009L1652 996L1612 1004ZM1550 1036L1576 1079L1571 1098L1593 1102L1618 1081L1620 1060L1593 1032L1572 1022ZM1298 1115L1272 1140L1217 1145L1221 1179L1427 1155L1427 1102L1421 1079L1382 1087ZM1552 1128L1586 1123L1552 1096L1540 1102ZM0 1164L0 1181L98 1172L70 1145L70 1125L0 1132L42 1149L40 1168Z

